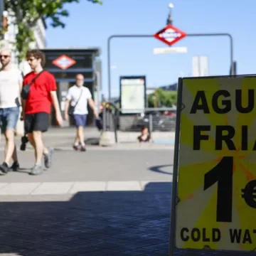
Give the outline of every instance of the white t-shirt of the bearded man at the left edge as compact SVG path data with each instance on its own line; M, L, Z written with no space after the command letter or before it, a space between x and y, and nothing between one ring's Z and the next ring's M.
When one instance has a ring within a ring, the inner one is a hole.
M0 71L0 108L18 107L20 105L21 70Z

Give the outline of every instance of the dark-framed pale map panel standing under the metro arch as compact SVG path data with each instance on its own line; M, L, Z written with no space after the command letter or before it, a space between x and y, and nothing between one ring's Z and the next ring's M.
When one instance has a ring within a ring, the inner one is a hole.
M146 77L120 77L120 100L123 114L144 112L146 107Z

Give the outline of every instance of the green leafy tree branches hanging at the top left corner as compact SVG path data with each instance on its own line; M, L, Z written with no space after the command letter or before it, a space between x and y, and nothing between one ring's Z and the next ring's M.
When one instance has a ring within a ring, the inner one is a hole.
M100 0L87 0L93 4L102 4ZM36 26L38 19L50 19L50 26L53 28L65 28L65 23L61 18L69 16L68 10L64 9L65 4L79 3L80 0L6 0L4 9L9 12L11 23L16 25L16 49L18 50L18 60L21 61L26 56L29 43L35 40L33 27ZM4 36L6 31L2 31Z

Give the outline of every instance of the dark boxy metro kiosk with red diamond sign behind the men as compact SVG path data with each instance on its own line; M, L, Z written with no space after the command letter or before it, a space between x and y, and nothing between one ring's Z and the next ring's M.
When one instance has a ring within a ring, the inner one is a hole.
M101 91L101 63L99 48L46 48L41 49L46 54L45 69L55 77L58 87L58 100L60 110L64 114L65 96L69 87L75 84L75 76L80 73L84 76L84 86L87 87L93 100L100 102ZM87 124L94 125L92 110L88 107ZM54 113L51 114L50 123L55 125ZM73 125L73 120L65 122L64 126Z

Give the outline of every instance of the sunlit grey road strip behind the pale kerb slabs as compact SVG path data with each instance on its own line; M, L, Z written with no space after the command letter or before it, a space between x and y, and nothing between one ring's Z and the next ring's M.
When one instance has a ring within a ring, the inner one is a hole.
M171 149L55 151L52 168L41 176L31 176L33 151L20 151L21 171L0 176L0 183L171 181L173 154ZM0 151L0 161L3 157Z

